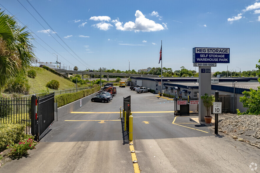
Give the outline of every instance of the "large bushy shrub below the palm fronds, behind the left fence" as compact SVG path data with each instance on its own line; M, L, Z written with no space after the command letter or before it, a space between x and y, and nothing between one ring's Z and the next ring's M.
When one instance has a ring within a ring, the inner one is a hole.
M29 92L30 86L25 74L19 74L14 79L9 79L5 92L25 93Z

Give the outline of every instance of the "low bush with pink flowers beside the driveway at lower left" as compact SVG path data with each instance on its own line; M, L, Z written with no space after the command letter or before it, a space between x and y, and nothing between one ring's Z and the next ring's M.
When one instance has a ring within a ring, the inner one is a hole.
M27 135L23 140L19 141L18 144L12 144L7 146L7 148L11 148L9 156L12 159L21 158L23 155L27 155L28 149L34 149L37 141L33 140L32 135Z

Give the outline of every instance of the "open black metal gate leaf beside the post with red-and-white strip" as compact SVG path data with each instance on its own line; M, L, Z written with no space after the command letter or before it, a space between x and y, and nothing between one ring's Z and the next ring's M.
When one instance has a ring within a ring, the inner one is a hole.
M37 136L41 139L54 122L54 93L38 97L37 114Z

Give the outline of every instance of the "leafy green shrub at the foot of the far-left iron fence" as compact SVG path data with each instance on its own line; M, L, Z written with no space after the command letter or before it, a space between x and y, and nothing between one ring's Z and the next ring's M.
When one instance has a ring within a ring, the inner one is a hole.
M0 124L0 150L22 140L26 136L24 129L24 124Z

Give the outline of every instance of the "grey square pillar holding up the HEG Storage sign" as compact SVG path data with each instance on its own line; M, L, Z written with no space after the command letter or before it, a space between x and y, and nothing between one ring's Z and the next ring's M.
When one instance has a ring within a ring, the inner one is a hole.
M206 107L201 100L201 96L206 93L211 95L211 67L199 66L199 121L205 121L204 116L207 116Z

